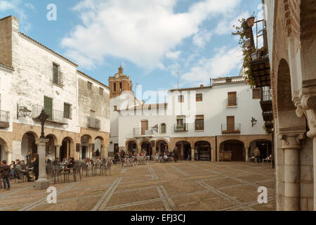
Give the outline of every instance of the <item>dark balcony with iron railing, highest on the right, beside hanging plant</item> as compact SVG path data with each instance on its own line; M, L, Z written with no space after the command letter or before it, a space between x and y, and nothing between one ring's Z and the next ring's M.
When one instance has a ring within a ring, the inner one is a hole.
M262 30L258 28L259 23L262 23L260 27ZM251 53L251 61L250 67L252 72L252 77L256 82L256 87L262 86L270 86L271 78L270 78L270 62L268 55L268 41L267 41L267 30L265 28L265 20L258 20L255 22L256 26L256 44L254 43L254 33L251 28L251 39L249 45L249 52ZM258 40L263 37L263 48L258 49ZM256 49L253 52L253 49Z

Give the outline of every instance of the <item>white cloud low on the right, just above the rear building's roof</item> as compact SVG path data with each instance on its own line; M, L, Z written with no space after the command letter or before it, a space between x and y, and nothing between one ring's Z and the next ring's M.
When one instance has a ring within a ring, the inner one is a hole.
M216 52L213 58L203 58L197 66L191 68L190 72L181 76L181 82L191 86L207 85L210 78L229 75L232 70L241 67L242 51L239 46L234 49L223 47L216 49Z

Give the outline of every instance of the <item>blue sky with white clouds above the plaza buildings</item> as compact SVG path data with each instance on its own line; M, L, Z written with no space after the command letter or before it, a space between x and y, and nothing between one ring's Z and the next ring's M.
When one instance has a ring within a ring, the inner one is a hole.
M46 18L48 4L57 20ZM20 31L108 84L120 63L143 91L208 85L235 76L242 53L232 25L261 0L0 0L0 18L14 15Z

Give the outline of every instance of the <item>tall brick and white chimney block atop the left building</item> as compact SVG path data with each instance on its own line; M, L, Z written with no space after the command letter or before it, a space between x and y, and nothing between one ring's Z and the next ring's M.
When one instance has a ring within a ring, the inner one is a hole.
M0 19L0 63L13 67L14 33L19 31L19 20L12 15Z

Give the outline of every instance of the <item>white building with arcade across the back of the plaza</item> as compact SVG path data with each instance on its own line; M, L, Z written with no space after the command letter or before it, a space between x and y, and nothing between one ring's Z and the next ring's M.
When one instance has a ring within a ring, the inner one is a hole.
M232 160L247 161L258 147L266 158L272 153L271 135L263 129L260 94L242 75L170 90L167 103L158 105L126 101L133 93L121 94L111 98L111 151L117 146L154 155L177 147L182 159L196 153L197 160L218 161L231 152Z

